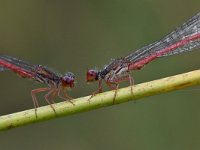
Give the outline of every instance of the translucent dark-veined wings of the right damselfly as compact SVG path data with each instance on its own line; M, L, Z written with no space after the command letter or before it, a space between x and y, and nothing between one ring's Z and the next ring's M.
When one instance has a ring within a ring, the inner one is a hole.
M155 41L152 44L149 44L135 51L134 53L126 56L125 59L133 63L137 62L138 60L141 60L152 54L155 54L156 52L159 52L165 49L166 47L176 44L177 42L180 42L185 38L193 36L195 34L200 34L200 13L190 18L183 25L176 28L174 31L172 31L170 34L166 35L159 41ZM192 51L197 48L200 48L199 38L196 40L192 40L181 47L173 49L172 51L166 52L165 54L159 57L180 54L182 52Z

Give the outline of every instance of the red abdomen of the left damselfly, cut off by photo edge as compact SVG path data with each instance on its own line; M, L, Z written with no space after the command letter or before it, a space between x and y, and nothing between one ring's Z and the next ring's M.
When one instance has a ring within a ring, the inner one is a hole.
M14 71L23 78L33 78L33 74L30 71L24 70L23 68L20 68L15 64L9 63L5 60L0 59L0 66L3 66L7 69Z

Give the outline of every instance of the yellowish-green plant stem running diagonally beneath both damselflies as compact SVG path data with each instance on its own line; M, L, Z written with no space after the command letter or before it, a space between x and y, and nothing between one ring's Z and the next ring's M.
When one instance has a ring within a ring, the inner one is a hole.
M200 70L134 85L132 87L133 93L131 92L130 86L121 88L117 90L115 104L130 100L138 100L143 97L166 93L197 84L200 84ZM69 102L53 104L56 114L50 106L43 106L37 108L37 117L35 116L34 109L0 116L0 130L11 129L60 116L67 116L105 106L111 106L113 105L114 94L114 91L97 94L90 100L90 102L88 101L90 96L77 98L73 100L75 106Z

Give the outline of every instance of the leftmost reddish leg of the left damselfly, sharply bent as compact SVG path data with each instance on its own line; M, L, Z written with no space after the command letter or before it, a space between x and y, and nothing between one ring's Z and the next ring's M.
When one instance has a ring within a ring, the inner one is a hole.
M33 100L33 104L34 104L34 108L35 108L35 115L37 117L37 107L39 107L37 98L36 98L36 94L40 93L40 92L44 92L44 91L49 91L50 88L39 88L39 89L35 89L31 91L31 96L32 96L32 100Z

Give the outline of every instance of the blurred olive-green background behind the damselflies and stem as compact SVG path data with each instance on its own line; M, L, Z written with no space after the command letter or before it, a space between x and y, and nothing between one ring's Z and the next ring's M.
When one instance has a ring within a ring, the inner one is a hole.
M199 6L198 0L0 0L0 53L72 71L77 83L69 95L86 96L97 88L84 82L87 68L160 39ZM197 50L157 59L132 75L138 84L195 70L199 56ZM0 115L33 108L30 91L44 86L2 72ZM199 97L199 90L180 90L16 128L0 133L0 149L200 149ZM38 99L46 105L43 94Z

